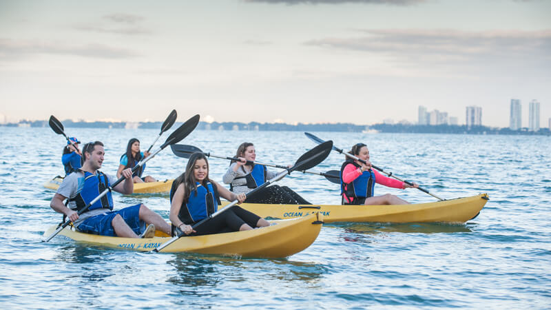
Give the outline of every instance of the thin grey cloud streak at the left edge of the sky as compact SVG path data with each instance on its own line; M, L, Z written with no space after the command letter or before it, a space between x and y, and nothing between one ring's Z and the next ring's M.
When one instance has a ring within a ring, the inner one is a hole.
M21 59L36 54L73 55L99 59L128 59L139 56L131 50L98 43L70 45L55 41L0 39L0 60Z

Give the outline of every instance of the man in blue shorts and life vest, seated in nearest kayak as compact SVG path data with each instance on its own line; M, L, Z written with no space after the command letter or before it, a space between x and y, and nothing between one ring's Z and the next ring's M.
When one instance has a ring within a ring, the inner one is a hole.
M103 174L98 169L103 163L105 151L100 141L86 143L83 146L83 165L77 172L63 178L63 183L57 189L50 207L54 211L69 218L77 231L101 236L117 236L126 238L152 238L155 229L170 234L170 225L154 211L138 203L113 211L111 192L96 201L90 208L79 216L78 211L91 203L115 180L112 176ZM121 194L132 194L132 169L125 169L121 173L125 180L114 187ZM67 206L63 200L67 199ZM147 229L145 228L147 226Z

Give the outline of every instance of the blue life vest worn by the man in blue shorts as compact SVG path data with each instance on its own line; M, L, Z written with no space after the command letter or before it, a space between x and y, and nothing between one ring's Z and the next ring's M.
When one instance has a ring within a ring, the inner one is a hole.
M82 172L82 170L81 170ZM90 172L84 172L84 185L74 198L70 200L76 203L76 211L81 211L88 203L92 202L99 194L101 194L105 189L109 188L109 178L103 172L96 172L96 175L91 174ZM87 211L92 211L94 209L107 208L113 209L113 197L111 196L111 191L107 192L100 200L96 201L91 205Z

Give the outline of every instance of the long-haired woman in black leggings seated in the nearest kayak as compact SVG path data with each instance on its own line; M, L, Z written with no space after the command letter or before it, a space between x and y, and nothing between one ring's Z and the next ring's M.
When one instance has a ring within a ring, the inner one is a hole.
M187 235L219 234L270 225L264 218L233 205L194 229L193 225L218 210L220 196L227 200L238 200L239 203L247 198L245 193L229 192L209 178L209 161L205 154L191 154L185 172L174 180L170 191L172 236L181 232Z

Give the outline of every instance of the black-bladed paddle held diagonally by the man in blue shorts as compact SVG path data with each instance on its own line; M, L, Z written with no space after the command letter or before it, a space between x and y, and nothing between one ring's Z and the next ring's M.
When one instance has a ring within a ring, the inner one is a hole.
M187 120L185 123L183 123L180 127L178 127L177 130L174 130L174 132L172 134L170 134L170 136L167 138L167 141L165 141L165 143L163 143L163 145L161 145L159 147L158 150L156 150L156 152L153 152L150 156L147 156L147 158L142 158L142 160L136 165L134 166L134 168L132 168L132 173L136 172L136 169L140 169L140 167L143 166L143 164L145 164L147 161L149 161L149 159L151 158L154 158L154 156L156 154L158 154L158 152L162 151L163 149L165 149L165 147L167 147L168 145L172 145L174 143L178 143L180 142L183 138L185 138L186 136L188 136L189 134L191 134L191 132L194 131L195 127L197 127L197 124L199 123L199 115L197 114L196 116L193 116L191 118L189 118L189 120ZM90 201L90 203L88 203L85 207L83 207L83 209L81 209L79 211L79 216L81 214L83 214L85 211L87 211L87 209L93 205L94 203L96 203L96 201L100 200L101 197L105 196L105 194L107 194L107 192L110 192L112 191L112 189L118 185L118 183L121 183L123 182L123 180L125 180L125 177L124 176L121 176L121 178L119 178L118 180L116 180L113 184L111 184L107 189L105 189L103 192L101 192L101 194L99 194L99 196L97 196L96 198L94 198L94 200ZM57 234L59 234L59 231L63 230L63 228L65 228L67 225L69 225L69 223L71 223L71 220L67 220L65 223L63 223L63 225L61 225L60 227L58 227L56 229L56 231L54 231L53 234L51 234L48 238L46 238L45 240L43 240L43 242L48 242L50 241L52 238L54 238L54 236L56 236Z

